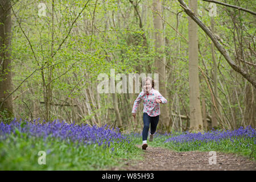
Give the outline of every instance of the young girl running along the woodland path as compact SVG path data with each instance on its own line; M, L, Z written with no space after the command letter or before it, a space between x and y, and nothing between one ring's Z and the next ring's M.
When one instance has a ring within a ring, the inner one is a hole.
M134 101L133 105L133 117L136 117L136 111L139 103L143 100L143 131L142 131L142 150L147 148L147 135L150 127L150 139L154 138L156 126L158 126L159 115L160 115L160 103L166 104L167 100L164 98L158 90L154 89L154 80L151 77L146 77L142 80L142 92Z

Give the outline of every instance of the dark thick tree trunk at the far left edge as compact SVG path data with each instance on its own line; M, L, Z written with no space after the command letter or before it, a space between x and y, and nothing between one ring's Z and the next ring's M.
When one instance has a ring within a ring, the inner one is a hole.
M11 73L11 3L0 0L0 111L7 111L0 117L13 116L13 96L3 101L13 89Z

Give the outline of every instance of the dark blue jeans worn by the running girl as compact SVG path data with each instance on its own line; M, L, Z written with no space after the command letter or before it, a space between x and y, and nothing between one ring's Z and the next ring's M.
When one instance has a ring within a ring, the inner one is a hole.
M154 134L156 130L156 126L158 126L159 115L155 117L151 117L147 115L147 113L143 113L143 123L144 127L142 130L142 140L147 140L148 130L150 127L150 134Z

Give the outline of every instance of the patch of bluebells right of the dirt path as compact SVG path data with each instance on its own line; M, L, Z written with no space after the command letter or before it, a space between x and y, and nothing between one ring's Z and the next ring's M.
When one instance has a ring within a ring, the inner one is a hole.
M234 142L234 139L252 139L256 140L256 131L251 126L245 127L241 126L237 130L212 130L207 133L189 133L188 131L177 136L171 135L164 143L174 142L174 143L192 143L192 142L221 142L225 139L230 139L231 142Z

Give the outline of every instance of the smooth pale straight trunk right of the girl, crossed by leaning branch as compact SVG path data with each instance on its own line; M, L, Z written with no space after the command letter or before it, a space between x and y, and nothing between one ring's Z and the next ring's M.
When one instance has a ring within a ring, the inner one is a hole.
M197 14L197 0L189 0L189 7ZM199 72L198 72L198 35L197 24L188 17L188 52L189 52L189 108L191 131L203 130L200 106Z

